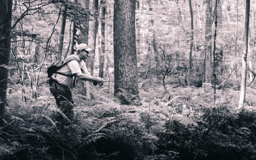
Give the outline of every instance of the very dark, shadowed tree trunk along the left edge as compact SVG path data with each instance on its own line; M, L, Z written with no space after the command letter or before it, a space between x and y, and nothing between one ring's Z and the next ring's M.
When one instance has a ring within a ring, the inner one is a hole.
M5 114L8 64L11 51L12 0L0 1L0 126Z

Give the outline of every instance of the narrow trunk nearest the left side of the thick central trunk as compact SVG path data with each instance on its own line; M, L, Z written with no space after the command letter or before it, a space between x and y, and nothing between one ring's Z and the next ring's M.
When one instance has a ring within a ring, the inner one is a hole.
M106 14L106 1L101 0L101 47L100 47L100 67L99 77L103 78L104 74L104 61L105 61L105 14Z

